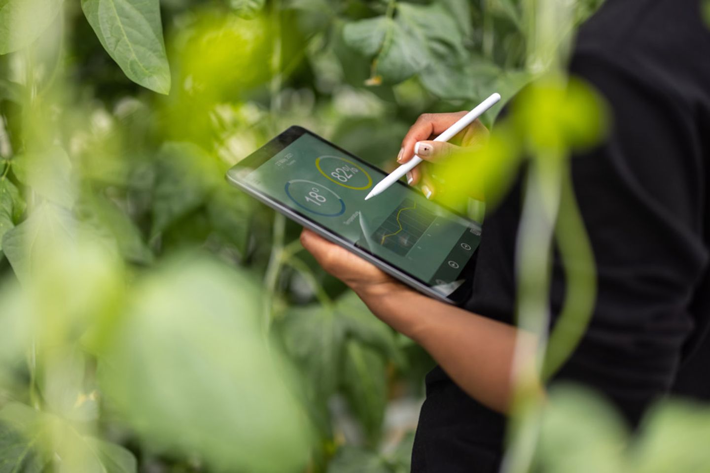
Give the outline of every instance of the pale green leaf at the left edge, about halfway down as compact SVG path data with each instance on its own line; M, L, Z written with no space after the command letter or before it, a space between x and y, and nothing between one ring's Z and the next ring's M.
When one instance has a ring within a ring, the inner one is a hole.
M53 252L75 240L75 220L64 208L48 202L40 204L15 228L5 233L3 251L21 282L29 280L35 267Z

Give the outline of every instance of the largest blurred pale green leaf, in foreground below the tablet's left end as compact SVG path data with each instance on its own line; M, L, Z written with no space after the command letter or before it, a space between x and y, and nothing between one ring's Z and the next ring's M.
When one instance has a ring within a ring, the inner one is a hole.
M278 350L261 336L249 278L187 257L135 294L99 369L126 421L148 443L217 469L300 471L310 428Z

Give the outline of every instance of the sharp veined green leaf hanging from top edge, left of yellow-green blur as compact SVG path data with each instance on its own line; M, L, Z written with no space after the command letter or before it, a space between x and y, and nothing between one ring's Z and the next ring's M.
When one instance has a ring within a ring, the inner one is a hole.
M82 0L89 24L133 82L160 94L170 91L159 0Z

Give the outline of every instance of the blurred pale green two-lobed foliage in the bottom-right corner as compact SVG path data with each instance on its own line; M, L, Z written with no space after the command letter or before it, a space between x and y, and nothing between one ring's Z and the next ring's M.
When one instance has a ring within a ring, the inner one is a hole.
M558 386L542 422L538 467L545 472L704 472L710 411L689 401L659 401L632 436L606 401Z

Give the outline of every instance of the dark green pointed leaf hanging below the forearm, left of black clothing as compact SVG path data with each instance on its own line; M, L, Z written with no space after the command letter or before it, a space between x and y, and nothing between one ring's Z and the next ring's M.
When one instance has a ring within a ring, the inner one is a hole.
M386 380L382 355L356 341L346 343L344 391L371 445L377 445L381 435L387 404Z

